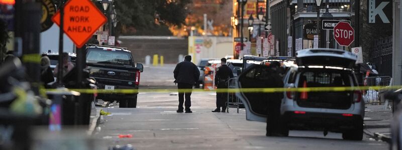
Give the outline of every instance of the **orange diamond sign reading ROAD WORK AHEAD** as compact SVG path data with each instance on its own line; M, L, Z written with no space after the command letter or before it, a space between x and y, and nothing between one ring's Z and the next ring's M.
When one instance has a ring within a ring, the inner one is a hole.
M90 0L68 0L63 20L64 32L80 48L107 18ZM52 21L60 26L60 11L53 15Z

